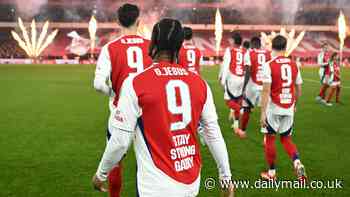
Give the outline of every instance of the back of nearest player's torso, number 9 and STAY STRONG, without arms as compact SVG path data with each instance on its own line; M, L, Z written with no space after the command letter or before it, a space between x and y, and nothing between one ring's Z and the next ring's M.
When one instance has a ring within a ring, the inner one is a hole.
M142 190L159 184L179 192L195 191L201 168L196 135L207 97L205 81L181 65L160 62L132 83L142 111L135 139L142 169L138 178L149 180L140 183Z

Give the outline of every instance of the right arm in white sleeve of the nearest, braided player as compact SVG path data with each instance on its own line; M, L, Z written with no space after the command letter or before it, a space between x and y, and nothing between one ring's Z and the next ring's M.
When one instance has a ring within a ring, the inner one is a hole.
M219 171L220 182L224 189L232 189L231 170L229 157L224 138L218 124L215 104L210 87L207 85L207 100L201 114L201 123L204 127L204 139L209 147L209 151L215 159Z

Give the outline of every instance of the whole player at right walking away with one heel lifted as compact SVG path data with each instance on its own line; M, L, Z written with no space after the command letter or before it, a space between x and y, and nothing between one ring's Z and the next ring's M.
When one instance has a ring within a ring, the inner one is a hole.
M278 35L273 38L273 58L263 66L260 122L265 139L265 159L269 169L262 172L261 177L267 180L276 179L275 138L279 133L284 150L293 161L298 180L304 181L305 168L291 137L295 105L301 95L302 79L295 62L284 56L286 46L285 37Z

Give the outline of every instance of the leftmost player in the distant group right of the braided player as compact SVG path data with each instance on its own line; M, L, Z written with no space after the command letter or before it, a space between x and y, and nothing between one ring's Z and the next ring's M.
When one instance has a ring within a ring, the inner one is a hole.
M224 99L231 109L230 117L233 117L234 131L239 136L239 116L244 82L244 54L246 49L241 47L242 37L235 32L232 35L233 47L227 48L222 63L221 85L225 88Z

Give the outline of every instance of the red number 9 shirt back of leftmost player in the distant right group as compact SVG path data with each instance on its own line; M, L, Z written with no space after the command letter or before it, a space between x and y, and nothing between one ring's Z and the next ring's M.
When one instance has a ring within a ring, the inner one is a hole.
M230 71L232 74L243 77L244 76L244 54L246 49L232 48L231 49L231 61L230 61Z

